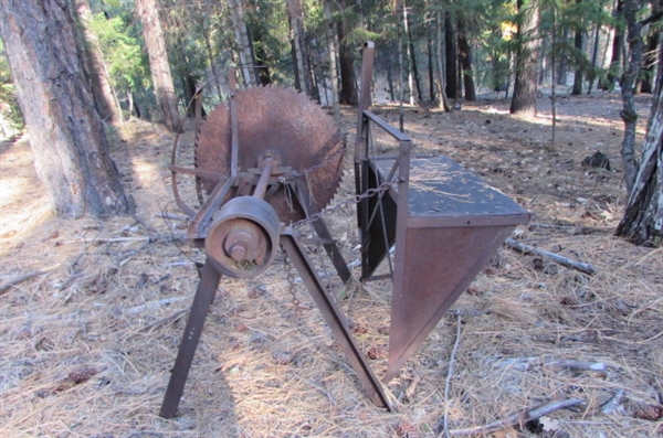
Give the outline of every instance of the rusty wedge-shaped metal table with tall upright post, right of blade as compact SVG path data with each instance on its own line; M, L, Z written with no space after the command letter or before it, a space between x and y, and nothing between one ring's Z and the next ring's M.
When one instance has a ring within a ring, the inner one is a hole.
M365 49L365 63L370 62L367 56L372 56L371 47ZM362 94L369 92L368 86L361 88ZM412 158L406 133L368 108L360 109L357 194L392 183L357 209L361 279L370 279L386 259L392 280L389 357L382 377L389 382L514 227L529 222L529 212L450 158ZM398 142L398 157L376 158L371 129Z

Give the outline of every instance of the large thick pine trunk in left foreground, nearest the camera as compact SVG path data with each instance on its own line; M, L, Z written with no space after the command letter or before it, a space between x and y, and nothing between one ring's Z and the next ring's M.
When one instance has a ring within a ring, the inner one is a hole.
M0 35L39 178L59 215L128 213L66 0L0 0Z

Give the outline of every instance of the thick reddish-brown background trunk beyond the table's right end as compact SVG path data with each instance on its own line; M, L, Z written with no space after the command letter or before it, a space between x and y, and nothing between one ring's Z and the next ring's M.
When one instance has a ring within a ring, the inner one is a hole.
M534 33L538 25L538 11L529 0L518 0L517 6L523 19L516 33L516 81L509 113L535 116L537 39Z

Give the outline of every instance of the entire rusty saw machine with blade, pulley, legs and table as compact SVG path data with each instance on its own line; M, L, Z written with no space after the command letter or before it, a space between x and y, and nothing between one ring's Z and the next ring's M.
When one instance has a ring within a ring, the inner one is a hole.
M177 164L172 189L190 217L188 238L207 258L172 368L160 416L172 418L183 393L206 316L221 276L264 273L282 247L296 268L369 399L390 408L383 384L393 378L444 312L505 238L529 213L445 157L414 157L412 141L368 110L373 44L364 49L355 143L357 225L361 280L385 261L392 281L389 356L378 378L348 322L318 277L298 233L286 224L309 222L343 280L351 279L324 222L325 205L341 178L345 152L333 119L294 90L238 90L200 124L197 99L194 167ZM376 154L373 133L398 145ZM178 174L196 178L198 211L179 193ZM207 197L206 197L207 196Z

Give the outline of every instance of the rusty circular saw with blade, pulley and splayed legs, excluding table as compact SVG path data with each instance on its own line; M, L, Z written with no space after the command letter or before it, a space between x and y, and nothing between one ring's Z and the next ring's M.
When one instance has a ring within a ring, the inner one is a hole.
M207 259L161 406L160 415L166 418L177 413L221 276L251 278L266 270L278 247L281 222L316 214L340 183L344 146L333 119L322 108L294 90L236 90L232 78L230 82L231 98L200 126L194 167L176 164L177 141L173 148L175 199L191 217L190 242L204 248ZM180 196L180 173L196 177L198 212ZM208 193L204 200L203 190ZM339 276L348 281L350 271L323 220L314 218L312 225ZM282 241L369 397L385 406L380 381L354 343L345 318L329 302L295 235L286 233Z

